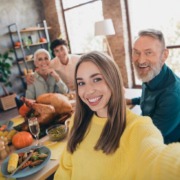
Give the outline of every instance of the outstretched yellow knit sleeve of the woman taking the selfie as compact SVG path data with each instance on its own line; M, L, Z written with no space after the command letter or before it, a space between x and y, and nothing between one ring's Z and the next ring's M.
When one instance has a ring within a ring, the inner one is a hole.
M129 157L129 161L136 162L136 179L177 180L180 177L180 160L177 158L180 157L180 144L165 145L160 131L149 118L136 121L129 139L134 156Z

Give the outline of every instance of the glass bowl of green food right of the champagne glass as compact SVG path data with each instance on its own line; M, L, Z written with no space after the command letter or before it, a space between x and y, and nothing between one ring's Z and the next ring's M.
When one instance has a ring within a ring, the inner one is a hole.
M53 125L46 129L46 134L51 141L61 141L67 136L68 128L62 124Z

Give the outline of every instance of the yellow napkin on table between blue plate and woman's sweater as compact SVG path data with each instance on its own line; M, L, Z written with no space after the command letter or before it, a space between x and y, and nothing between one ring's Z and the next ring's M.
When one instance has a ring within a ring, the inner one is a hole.
M59 160L62 152L66 146L67 140L64 141L55 141L52 142L50 140L44 142L44 146L49 148L51 150L51 158L50 159L55 159Z

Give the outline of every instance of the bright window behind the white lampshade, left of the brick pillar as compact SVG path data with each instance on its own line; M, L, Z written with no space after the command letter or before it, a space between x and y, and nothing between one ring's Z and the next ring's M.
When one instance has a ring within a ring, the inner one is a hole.
M94 24L103 19L102 1L62 0L71 53L102 50L102 38L94 36Z

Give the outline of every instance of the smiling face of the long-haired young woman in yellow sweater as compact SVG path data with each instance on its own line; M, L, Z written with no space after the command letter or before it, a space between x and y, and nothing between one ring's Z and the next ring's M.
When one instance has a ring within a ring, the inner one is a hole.
M111 90L99 68L92 62L79 65L76 75L78 95L99 117L107 117Z

